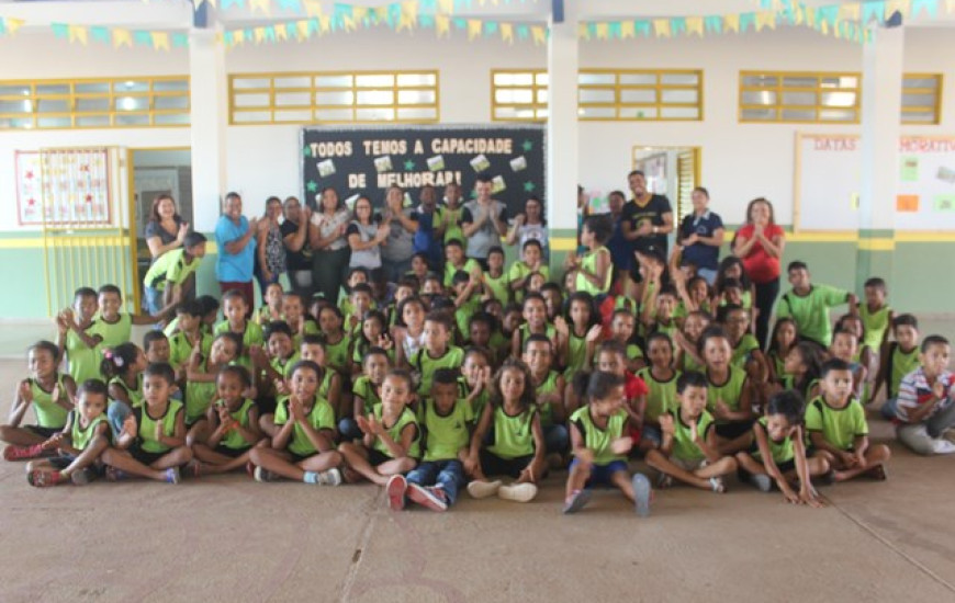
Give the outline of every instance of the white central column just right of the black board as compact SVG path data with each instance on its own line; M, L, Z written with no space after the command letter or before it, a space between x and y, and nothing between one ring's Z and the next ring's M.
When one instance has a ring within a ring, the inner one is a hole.
M577 127L577 3L564 1L564 22L550 24L547 47L547 219L552 232L566 237L576 229L578 147ZM553 246L553 238L551 239ZM574 243L574 247L576 243ZM555 246L555 251L569 250Z

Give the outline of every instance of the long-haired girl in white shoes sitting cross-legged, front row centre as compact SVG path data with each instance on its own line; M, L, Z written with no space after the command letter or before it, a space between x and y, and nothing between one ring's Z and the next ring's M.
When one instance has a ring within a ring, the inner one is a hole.
M517 359L507 359L494 376L490 403L471 436L464 462L464 470L473 479L468 492L476 499L497 494L504 500L530 502L547 471L546 451L530 369ZM514 481L505 486L487 479L498 475Z

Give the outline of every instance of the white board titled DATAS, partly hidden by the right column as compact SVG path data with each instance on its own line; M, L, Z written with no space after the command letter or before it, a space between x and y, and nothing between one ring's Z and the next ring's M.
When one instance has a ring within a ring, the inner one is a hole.
M955 228L955 136L899 140L896 230ZM793 227L856 230L862 144L854 135L796 135Z

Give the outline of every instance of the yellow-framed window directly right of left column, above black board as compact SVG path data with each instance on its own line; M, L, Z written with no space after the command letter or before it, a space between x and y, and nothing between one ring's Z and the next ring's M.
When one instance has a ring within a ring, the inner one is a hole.
M229 123L427 123L439 120L437 71L234 73Z

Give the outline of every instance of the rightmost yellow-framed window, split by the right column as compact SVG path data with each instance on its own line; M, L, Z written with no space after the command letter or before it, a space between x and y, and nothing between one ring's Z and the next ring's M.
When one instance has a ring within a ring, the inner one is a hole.
M906 124L937 124L942 77L906 73ZM741 71L740 121L857 124L862 118L862 75L801 71Z

